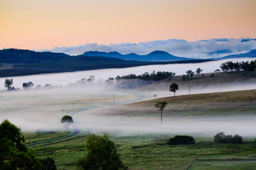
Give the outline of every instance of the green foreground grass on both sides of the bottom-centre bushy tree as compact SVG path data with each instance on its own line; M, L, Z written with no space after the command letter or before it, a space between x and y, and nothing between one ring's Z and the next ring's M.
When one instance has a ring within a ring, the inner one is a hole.
M243 144L215 144L212 138L195 137L194 145L167 145L170 135L139 135L110 139L118 147L121 160L131 170L166 169L247 169L256 164L256 145L252 140ZM86 153L87 137L32 148L39 158L51 156L57 168L73 170L76 160ZM205 168L207 167L207 168Z

